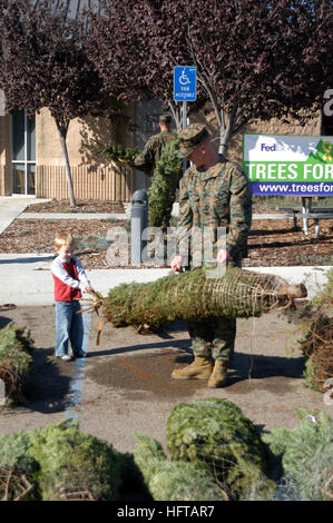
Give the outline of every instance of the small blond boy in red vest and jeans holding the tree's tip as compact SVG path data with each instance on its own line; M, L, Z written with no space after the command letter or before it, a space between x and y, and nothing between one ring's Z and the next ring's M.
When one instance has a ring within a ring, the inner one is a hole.
M69 233L56 236L57 258L52 262L51 273L55 280L56 302L56 356L70 362L68 341L74 357L86 357L89 344L91 316L77 314L80 310L81 292L92 290L84 267L74 256L74 239Z

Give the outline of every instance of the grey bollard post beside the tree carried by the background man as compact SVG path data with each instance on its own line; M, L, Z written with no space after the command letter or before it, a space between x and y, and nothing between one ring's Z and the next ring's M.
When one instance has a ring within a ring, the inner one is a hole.
M143 230L148 225L148 196L144 189L136 190L131 196L130 217L130 263L140 265L143 263Z

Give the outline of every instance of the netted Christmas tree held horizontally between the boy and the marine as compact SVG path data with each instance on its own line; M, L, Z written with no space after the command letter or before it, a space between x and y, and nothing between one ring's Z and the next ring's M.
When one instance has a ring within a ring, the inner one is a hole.
M306 295L304 285L288 285L277 276L227 267L216 277L216 270L202 267L148 284L121 284L107 298L96 297L95 308L101 306L115 327L156 328L176 319L261 316Z

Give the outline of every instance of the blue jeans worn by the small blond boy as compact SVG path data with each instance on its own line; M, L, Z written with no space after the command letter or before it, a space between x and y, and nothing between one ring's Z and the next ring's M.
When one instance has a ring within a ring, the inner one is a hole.
M68 354L68 342L74 355L88 351L91 314L76 314L80 308L79 302L56 302L56 356L58 357Z

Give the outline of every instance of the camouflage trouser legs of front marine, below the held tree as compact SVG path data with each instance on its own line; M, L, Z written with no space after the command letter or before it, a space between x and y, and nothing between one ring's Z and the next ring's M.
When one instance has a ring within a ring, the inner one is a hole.
M242 267L242 259L229 265ZM228 362L234 353L236 318L210 317L199 322L187 322L194 356L208 356Z

